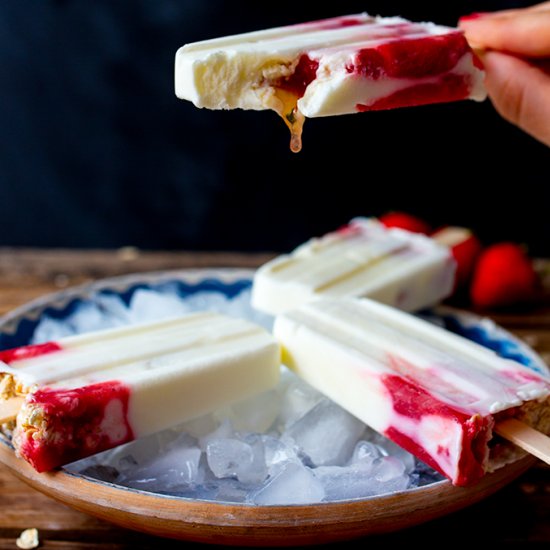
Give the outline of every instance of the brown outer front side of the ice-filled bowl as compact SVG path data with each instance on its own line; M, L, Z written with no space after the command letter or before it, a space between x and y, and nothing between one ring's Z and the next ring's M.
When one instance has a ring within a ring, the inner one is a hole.
M148 494L63 470L39 474L5 440L0 461L35 489L121 527L211 544L303 546L396 531L455 512L504 487L536 459L501 468L474 487L439 481L386 496L305 506L222 504Z

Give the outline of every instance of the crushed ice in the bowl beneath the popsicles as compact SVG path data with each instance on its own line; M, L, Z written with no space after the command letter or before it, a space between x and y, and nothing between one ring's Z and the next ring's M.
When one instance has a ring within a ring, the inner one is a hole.
M246 317L249 291L181 297L140 289L126 305L99 294L68 318L44 318L34 341L197 310ZM370 430L284 367L273 390L213 414L68 466L102 481L177 497L259 505L360 499L441 477Z

